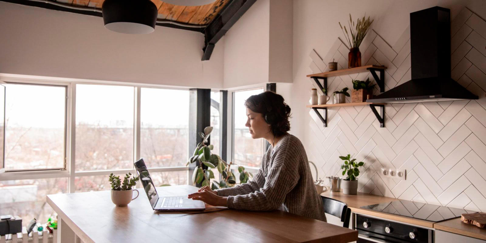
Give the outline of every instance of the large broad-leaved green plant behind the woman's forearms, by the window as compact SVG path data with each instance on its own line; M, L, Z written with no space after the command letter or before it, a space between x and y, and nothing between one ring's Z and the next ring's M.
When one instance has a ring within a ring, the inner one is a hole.
M191 163L196 163L196 168L194 168L194 173L192 173L192 182L195 185L200 184L201 187L211 185L212 190L233 187L236 184L236 176L230 170L232 162L228 164L220 156L212 154L211 150L213 150L214 146L208 144L208 138L212 130L213 128L208 126L204 128L204 133L199 133L203 141L197 144L186 166ZM214 168L217 168L221 174L221 180L219 182L216 181L214 173L211 171ZM238 172L240 173L241 183L245 183L253 177L253 174L245 171L243 166L238 166Z

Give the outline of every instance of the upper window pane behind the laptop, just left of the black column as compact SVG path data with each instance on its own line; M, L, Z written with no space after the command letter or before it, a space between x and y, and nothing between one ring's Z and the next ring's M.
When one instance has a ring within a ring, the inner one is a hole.
M141 88L140 157L148 168L188 160L189 91Z

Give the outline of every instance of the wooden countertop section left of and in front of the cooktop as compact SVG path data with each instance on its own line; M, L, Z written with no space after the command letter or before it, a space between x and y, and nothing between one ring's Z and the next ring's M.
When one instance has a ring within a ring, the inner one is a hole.
M372 204L389 203L392 201L397 201L399 200L397 198L378 196L378 195L373 195L373 194L368 194L363 192L358 192L358 194L356 195L347 195L344 194L342 191L340 192L325 191L321 193L321 195L346 203L347 207L351 208L351 211L354 213L362 213L370 216L380 217L383 219L389 219L389 220L395 220L395 221L404 222L408 224L414 224L417 226L425 226L429 228L434 227L434 222L431 221L414 219L406 216L400 216L396 214L378 212L370 209L360 208L362 206L368 206Z

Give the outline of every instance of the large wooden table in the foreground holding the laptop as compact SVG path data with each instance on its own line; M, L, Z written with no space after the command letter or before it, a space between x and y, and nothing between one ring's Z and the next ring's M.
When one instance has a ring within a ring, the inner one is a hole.
M72 230L76 242L84 243L346 243L358 239L355 230L279 210L227 209L194 214L154 211L143 189L139 191L139 198L127 207L115 206L110 191L48 195L47 202L58 214L59 238L66 239L65 235ZM181 185L159 187L157 191L159 195L175 196L187 195L197 188ZM75 240L68 238L68 241Z

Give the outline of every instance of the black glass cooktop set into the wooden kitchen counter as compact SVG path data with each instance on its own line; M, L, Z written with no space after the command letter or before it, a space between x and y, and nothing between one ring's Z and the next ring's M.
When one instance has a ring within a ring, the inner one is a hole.
M433 204L398 200L389 203L373 204L361 208L371 209L379 212L386 212L407 216L416 219L423 219L432 222L460 217L463 213L474 213L476 211L465 210L462 208L451 208Z

